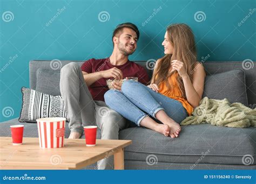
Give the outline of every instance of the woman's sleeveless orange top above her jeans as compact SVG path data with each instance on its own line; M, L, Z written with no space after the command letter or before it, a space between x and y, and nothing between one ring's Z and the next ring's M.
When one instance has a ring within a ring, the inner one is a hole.
M177 84L177 78L176 78L177 75L179 75L178 72L173 73L169 77L169 83L171 84L173 90L171 91L168 90L166 86L166 82L163 81L159 85L158 93L179 101L183 105L183 107L187 110L188 115L191 116L191 113L193 112L194 108L190 103L188 103L187 100L185 100L185 98L182 97L182 93L179 90L179 87Z

